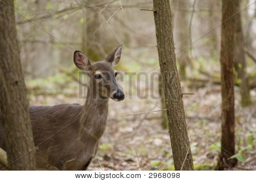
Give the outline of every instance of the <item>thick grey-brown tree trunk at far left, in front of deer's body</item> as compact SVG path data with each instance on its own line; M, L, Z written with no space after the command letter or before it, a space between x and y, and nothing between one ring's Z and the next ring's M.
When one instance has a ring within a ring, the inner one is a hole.
M0 2L0 109L11 170L36 169L26 86L16 38L14 2Z

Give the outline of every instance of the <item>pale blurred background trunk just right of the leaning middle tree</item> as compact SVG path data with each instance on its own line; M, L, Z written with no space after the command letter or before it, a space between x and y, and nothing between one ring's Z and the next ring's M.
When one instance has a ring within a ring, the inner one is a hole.
M187 0L178 0L175 15L175 26L177 35L177 49L181 50L189 44L189 20L188 13L182 11L187 7ZM186 77L186 67L189 65L189 48L185 48L182 52L177 54L177 63L179 63L179 74L181 78Z

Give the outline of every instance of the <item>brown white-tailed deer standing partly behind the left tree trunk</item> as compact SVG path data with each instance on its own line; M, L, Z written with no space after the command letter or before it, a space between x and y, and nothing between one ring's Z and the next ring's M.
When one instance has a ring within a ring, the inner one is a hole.
M90 78L84 105L30 106L38 168L85 170L92 162L106 128L109 98L125 98L112 68L118 64L121 52L119 46L104 61L95 63L82 52L74 52L74 63ZM0 148L6 150L2 121Z

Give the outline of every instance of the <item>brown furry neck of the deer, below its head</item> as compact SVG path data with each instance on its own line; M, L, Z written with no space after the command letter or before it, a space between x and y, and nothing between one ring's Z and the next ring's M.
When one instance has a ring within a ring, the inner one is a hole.
M97 142L103 135L108 118L109 99L97 96L90 82L85 104L82 106L80 136L82 140ZM85 141L84 141L85 142Z

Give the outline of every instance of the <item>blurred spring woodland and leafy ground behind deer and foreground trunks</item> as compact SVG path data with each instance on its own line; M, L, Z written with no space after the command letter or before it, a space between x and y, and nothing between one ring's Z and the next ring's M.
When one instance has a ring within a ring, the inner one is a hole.
M235 169L256 167L256 3L241 0L240 9L246 6L236 29L236 57L242 52L239 59L244 57L246 64L239 62L234 68L234 157L240 160ZM174 169L164 112L122 116L164 109L154 16L141 9L152 9L152 1L15 1L30 105L84 104L86 79L73 64L73 51L79 49L98 61L123 44L116 69L126 99L110 101L108 126L89 166L92 170ZM171 9L181 86L183 93L195 93L183 97L195 169L213 169L221 137L221 1L172 0ZM246 81L238 70L245 66L249 86L243 90L249 91L241 92Z

